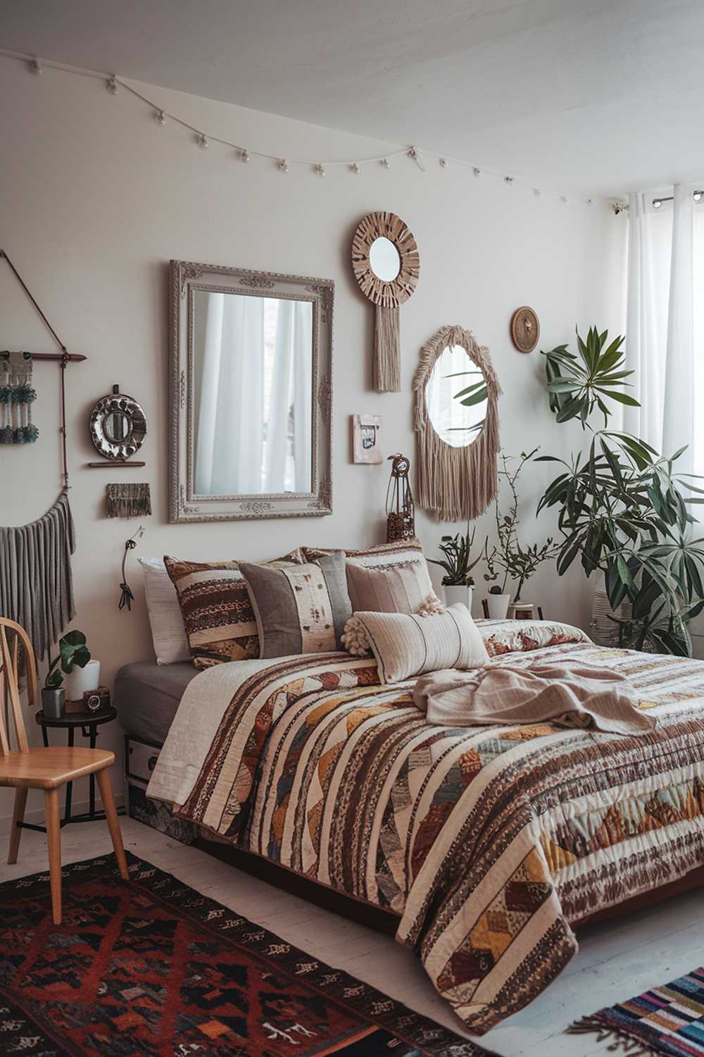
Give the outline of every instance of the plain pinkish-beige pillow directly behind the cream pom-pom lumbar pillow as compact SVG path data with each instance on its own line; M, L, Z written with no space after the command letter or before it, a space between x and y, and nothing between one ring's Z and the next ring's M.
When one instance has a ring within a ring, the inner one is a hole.
M353 558L347 562L347 589L353 612L417 613L435 597L424 559L368 569Z

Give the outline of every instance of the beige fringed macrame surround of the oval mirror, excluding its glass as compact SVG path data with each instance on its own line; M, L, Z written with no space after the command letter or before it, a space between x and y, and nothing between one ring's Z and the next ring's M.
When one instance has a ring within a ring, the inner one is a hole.
M454 448L436 433L427 416L425 385L436 361L449 346L460 345L480 368L487 382L487 418L471 444ZM424 346L413 381L416 393L417 496L418 504L440 521L473 521L496 496L499 449L498 409L501 392L489 358L489 350L461 327L443 327Z

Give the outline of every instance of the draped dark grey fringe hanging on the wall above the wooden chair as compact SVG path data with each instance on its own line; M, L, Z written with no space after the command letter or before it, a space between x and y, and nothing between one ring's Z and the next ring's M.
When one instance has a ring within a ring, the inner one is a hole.
M22 625L38 661L76 615L71 575L75 550L65 492L43 518L0 528L0 613Z

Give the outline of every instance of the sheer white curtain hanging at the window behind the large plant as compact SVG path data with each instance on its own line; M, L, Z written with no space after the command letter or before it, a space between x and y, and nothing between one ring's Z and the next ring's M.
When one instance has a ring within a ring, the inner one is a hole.
M629 200L626 349L635 384L626 391L642 406L624 409L624 428L666 456L687 445L677 463L681 472L704 468L704 438L695 423L696 390L704 381L703 332L696 321L701 286L695 282L704 224L696 217L693 190L676 186L674 201L660 209L652 194Z

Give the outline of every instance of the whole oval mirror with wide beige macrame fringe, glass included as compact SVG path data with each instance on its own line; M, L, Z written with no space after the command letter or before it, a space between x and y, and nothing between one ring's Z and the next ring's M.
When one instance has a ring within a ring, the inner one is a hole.
M421 350L413 388L418 503L440 521L474 520L498 485L501 388L489 349L443 327Z

